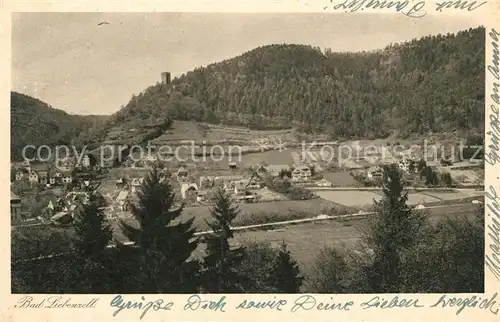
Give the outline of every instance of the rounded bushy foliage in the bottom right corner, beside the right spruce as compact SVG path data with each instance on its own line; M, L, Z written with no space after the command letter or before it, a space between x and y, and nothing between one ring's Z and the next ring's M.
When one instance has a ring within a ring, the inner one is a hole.
M404 292L482 293L484 226L477 218L447 217L408 251Z

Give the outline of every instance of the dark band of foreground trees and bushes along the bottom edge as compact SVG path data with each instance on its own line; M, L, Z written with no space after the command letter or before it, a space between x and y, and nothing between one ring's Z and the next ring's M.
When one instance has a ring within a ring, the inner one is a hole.
M13 258L13 292L22 293L325 293L482 292L484 213L437 226L407 205L401 173L384 169L384 198L352 249L325 248L304 276L287 245L235 243L238 208L219 191L195 234L179 220L168 180L153 169L133 207L138 225L121 223L133 246L112 240L96 196L75 221L75 253L41 261ZM58 242L54 240L53 242ZM13 241L13 247L21 247ZM22 253L19 251L16 254Z

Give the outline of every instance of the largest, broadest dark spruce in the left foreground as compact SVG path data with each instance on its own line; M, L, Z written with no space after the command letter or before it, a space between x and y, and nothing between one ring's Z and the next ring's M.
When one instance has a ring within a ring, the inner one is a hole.
M138 292L192 293L198 291L198 245L194 218L181 222L184 205L175 207L169 180L154 167L145 178L132 213L139 227L122 222L124 234L138 246Z

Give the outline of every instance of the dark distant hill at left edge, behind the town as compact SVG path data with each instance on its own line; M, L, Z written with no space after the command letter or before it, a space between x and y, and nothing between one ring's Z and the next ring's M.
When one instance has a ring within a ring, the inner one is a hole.
M108 116L71 115L21 93L10 94L11 159L22 160L26 145L71 144L81 133L92 132Z

